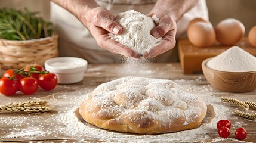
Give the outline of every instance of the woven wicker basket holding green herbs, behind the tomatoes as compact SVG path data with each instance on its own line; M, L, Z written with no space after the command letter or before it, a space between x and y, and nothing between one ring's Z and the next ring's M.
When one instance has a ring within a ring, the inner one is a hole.
M41 64L58 56L58 35L27 41L0 39L0 67L20 69L27 64Z

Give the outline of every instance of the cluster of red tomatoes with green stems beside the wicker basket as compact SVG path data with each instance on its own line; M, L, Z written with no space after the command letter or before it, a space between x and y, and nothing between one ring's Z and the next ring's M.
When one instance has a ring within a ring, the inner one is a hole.
M39 64L32 64L18 70L8 69L0 79L0 92L4 95L14 95L18 90L23 94L35 93L40 86L50 91L57 86L57 76L45 71Z

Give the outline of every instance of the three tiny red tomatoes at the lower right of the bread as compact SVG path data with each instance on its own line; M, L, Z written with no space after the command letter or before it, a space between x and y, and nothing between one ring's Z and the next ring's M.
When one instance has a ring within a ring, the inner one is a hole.
M220 120L217 123L217 128L218 128L218 135L220 135L222 138L227 138L230 135L230 127L231 123L229 120ZM235 132L236 138L239 140L243 140L247 136L247 132L244 128L240 127L236 129Z

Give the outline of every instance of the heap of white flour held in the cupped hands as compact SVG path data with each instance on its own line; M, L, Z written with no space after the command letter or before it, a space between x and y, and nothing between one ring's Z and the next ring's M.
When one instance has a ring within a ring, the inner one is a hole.
M155 47L161 40L150 34L155 27L153 19L140 12L129 10L119 13L115 21L121 24L123 32L121 35L109 33L110 38L134 49L138 54L143 54L146 49Z

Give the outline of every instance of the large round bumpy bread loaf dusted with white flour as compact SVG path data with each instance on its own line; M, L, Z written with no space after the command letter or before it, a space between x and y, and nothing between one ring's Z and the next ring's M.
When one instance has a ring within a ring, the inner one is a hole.
M95 88L79 113L99 128L149 135L198 127L206 104L171 80L123 77Z

